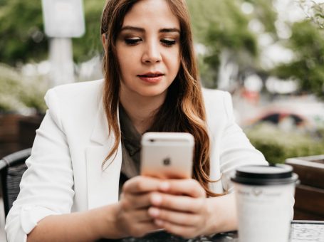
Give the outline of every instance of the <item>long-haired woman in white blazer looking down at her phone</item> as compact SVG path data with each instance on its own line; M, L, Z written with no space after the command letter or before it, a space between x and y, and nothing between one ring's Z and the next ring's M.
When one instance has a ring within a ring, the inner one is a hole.
M229 173L266 161L235 124L229 94L202 92L184 1L108 0L101 33L105 80L46 94L48 112L6 221L9 241L236 229ZM194 135L193 179L138 176L147 130Z

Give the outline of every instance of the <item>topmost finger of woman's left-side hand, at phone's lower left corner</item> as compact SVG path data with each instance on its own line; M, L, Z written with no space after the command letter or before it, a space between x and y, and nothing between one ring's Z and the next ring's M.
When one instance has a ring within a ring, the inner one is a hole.
M156 191L161 180L152 177L137 176L129 179L122 186L122 192L143 193L147 191Z

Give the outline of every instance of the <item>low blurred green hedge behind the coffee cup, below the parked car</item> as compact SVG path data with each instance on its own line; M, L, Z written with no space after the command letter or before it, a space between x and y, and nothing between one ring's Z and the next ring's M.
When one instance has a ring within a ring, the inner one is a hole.
M251 144L271 163L283 163L287 158L323 154L324 130L312 132L285 131L266 122L244 130Z

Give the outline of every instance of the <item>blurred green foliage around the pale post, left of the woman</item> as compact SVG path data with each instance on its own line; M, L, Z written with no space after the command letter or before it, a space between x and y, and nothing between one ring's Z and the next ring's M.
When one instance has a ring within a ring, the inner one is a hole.
M73 38L76 63L102 51L100 17L104 1L83 1L86 33ZM41 75L23 76L21 67L47 59L41 0L0 0L0 112L45 112L48 86ZM18 67L18 68L17 68Z

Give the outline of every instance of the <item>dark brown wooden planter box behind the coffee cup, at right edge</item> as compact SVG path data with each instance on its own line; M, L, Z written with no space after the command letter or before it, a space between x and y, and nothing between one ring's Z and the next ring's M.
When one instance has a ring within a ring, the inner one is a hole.
M286 159L301 181L296 186L295 215L298 220L324 220L324 155Z

